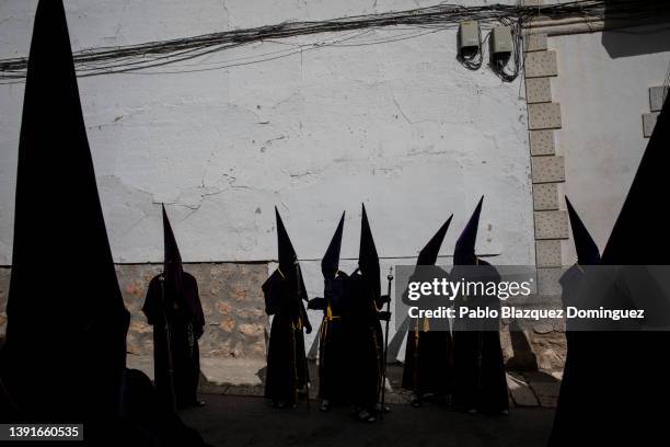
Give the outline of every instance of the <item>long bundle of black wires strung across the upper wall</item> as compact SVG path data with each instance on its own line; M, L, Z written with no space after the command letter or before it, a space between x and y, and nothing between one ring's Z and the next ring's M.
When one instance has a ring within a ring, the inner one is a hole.
M293 36L322 33L343 33L356 30L371 30L390 26L409 26L418 30L440 31L454 28L461 21L478 21L484 27L506 24L512 27L516 49L512 54L513 66L494 67L504 80L518 76L521 67L521 28L525 20L536 16L548 19L562 18L601 18L605 15L621 18L649 16L658 12L655 2L638 0L582 0L546 5L486 4L463 7L451 3L439 3L397 12L384 12L355 15L324 21L284 22L252 28L231 30L192 37L161 42L148 42L137 45L88 48L73 54L79 77L100 76L123 72L153 72L151 69L168 65L178 65L185 60L199 58L227 49L264 41L286 39ZM331 45L327 42L311 44L312 47ZM274 56L262 60L276 59ZM256 60L256 61L262 61ZM256 62L255 61L255 62ZM477 61L473 67L476 67ZM0 60L0 80L19 80L25 78L26 57ZM218 67L226 68L227 66ZM175 71L178 72L178 71Z

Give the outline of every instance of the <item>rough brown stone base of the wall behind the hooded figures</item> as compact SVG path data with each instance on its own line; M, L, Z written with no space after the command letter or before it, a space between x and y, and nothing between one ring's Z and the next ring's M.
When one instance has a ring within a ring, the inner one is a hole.
M160 264L119 264L116 274L130 312L128 353L152 354L152 329L141 312L147 287L161 272ZM209 358L264 359L268 318L261 285L267 278L265 263L198 263L185 270L198 280L206 328L200 339L200 356ZM7 326L7 295L10 272L0 268L0 339ZM319 322L312 321L314 328ZM510 332L510 330L512 330ZM515 369L559 370L565 360L565 336L561 328L510 328L504 322L501 342L508 367Z

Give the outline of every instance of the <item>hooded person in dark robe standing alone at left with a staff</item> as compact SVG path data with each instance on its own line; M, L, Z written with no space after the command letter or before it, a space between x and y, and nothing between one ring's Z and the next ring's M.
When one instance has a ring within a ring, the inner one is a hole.
M149 283L142 312L153 326L155 389L169 408L199 405L198 340L205 317L196 279L184 272L180 249L163 206L163 272Z

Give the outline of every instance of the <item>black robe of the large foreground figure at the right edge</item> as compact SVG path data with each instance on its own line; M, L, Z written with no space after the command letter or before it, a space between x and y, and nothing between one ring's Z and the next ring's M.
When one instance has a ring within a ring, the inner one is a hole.
M613 278L613 271L604 272L613 283L603 289L598 285L603 280L599 277L602 268L587 266L586 274L577 268L571 267L562 278L568 306L639 309L634 302L636 295L656 295L648 284ZM645 313L654 314L648 309ZM656 445L659 436L662 438L668 414L663 405L670 399L665 386L670 368L666 355L669 333L626 324L632 323L591 320L574 331L568 325L568 353L548 446ZM655 365L649 367L645 362Z

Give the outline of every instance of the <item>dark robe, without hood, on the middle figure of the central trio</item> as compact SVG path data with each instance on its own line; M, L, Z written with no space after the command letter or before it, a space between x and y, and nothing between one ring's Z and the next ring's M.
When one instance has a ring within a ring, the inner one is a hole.
M342 403L348 394L349 346L343 321L347 312L348 276L337 272L325 280L324 298L310 301L310 308L323 310L319 331L319 397Z

